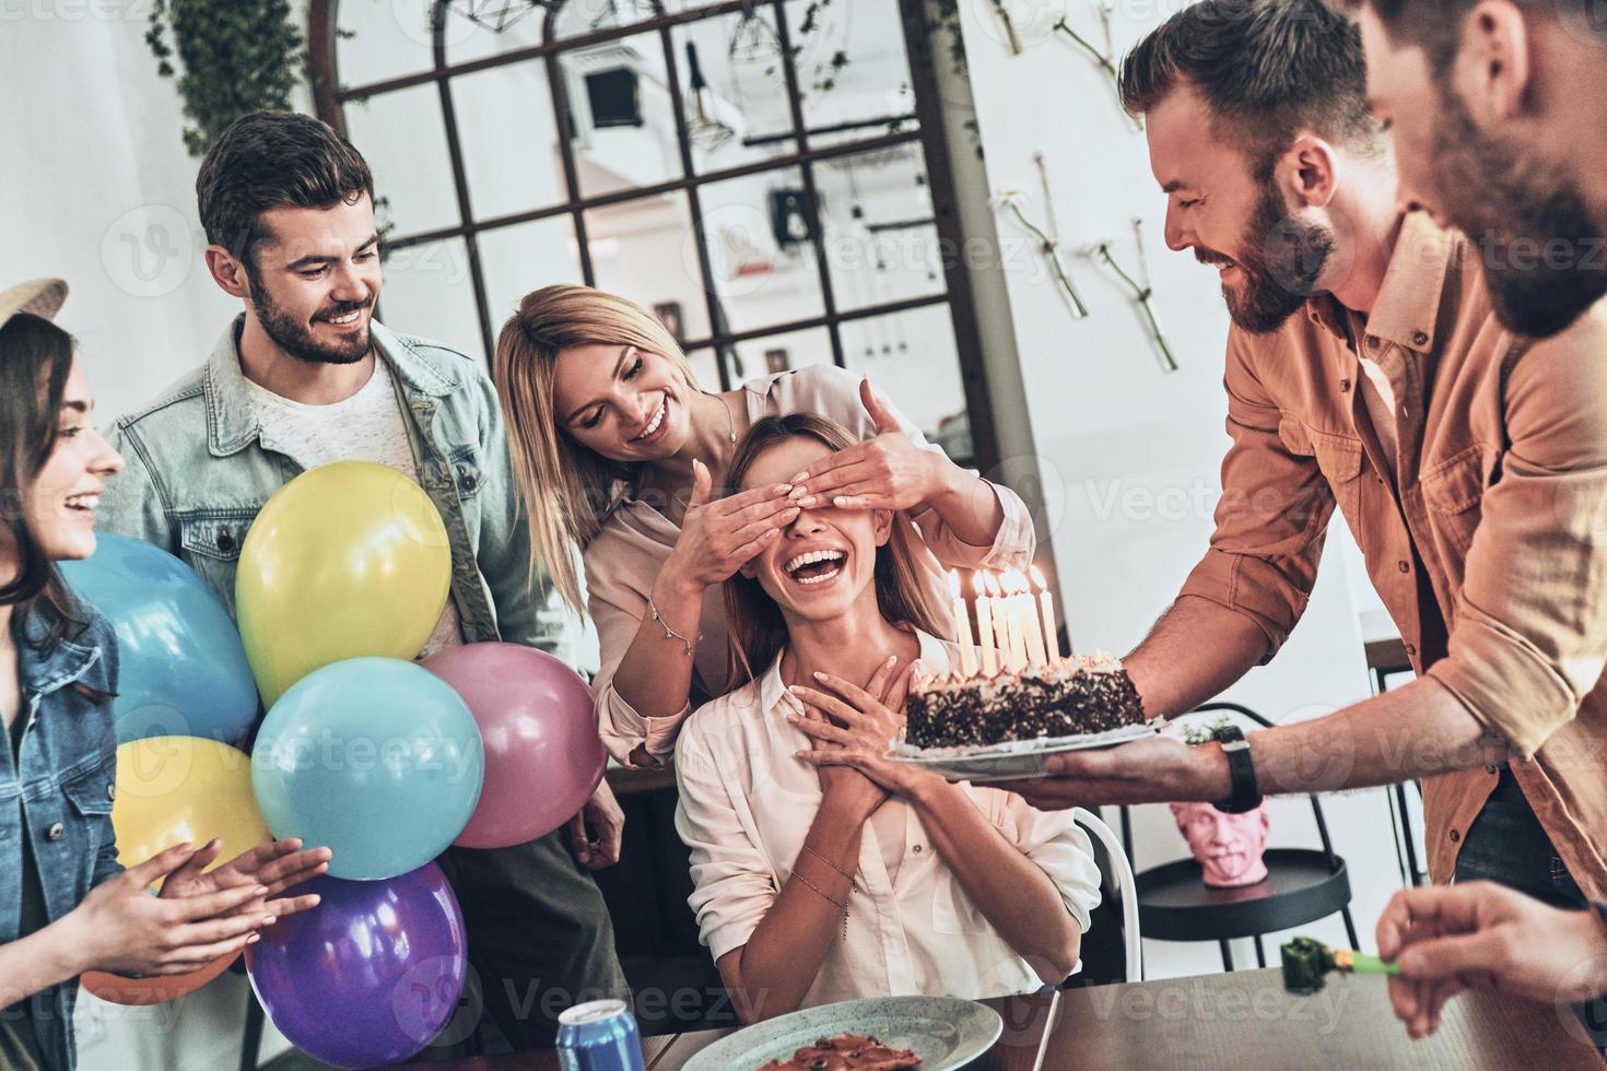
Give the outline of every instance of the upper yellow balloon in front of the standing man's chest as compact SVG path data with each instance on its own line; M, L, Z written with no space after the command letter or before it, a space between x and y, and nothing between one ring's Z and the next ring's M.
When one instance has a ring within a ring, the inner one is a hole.
M301 474L257 514L235 576L262 702L331 662L416 657L450 588L447 525L424 488L368 461Z

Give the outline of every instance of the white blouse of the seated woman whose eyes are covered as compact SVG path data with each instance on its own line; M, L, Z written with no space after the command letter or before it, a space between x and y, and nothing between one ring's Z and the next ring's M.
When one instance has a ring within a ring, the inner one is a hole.
M924 633L921 663L950 665L958 650ZM810 739L789 726L804 707L781 682L781 658L757 681L705 703L681 729L675 750L680 806L675 829L691 848L699 935L718 960L747 944L779 896L820 809L820 776L794 756ZM1065 909L1088 930L1099 902L1099 869L1070 811L1037 811L998 788L963 784L988 821L1054 880ZM903 811L898 822L889 808ZM890 798L865 824L858 891L848 896L847 938L832 936L804 1005L874 996L980 999L1041 988L1032 967L971 902L932 848L919 816ZM892 821L890 821L892 819ZM898 846L881 843L903 829ZM1078 970L1082 965L1078 963Z

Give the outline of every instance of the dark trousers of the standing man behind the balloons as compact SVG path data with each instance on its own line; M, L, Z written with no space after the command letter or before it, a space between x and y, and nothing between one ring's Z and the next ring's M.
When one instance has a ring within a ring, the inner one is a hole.
M429 1055L492 1050L487 1020L514 1050L540 1049L564 1008L630 999L603 894L562 830L513 848L448 848L437 862L463 907L469 986Z

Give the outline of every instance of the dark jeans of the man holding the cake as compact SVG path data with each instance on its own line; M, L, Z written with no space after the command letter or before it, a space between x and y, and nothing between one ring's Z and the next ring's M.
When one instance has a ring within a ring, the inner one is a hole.
M1474 819L1456 856L1458 882L1496 882L1562 909L1591 909L1562 856L1535 817L1511 768ZM1607 997L1573 1005L1591 1044L1607 1052Z

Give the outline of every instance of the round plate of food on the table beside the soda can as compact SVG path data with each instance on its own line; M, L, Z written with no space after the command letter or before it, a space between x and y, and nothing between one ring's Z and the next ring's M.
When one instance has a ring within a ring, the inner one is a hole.
M992 1049L1001 1032L998 1012L975 1000L844 1000L739 1029L694 1055L683 1071L791 1071L839 1052L876 1057L877 1068L953 1071Z

